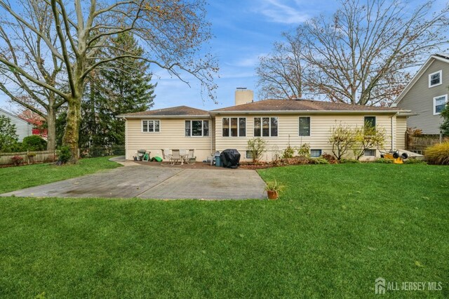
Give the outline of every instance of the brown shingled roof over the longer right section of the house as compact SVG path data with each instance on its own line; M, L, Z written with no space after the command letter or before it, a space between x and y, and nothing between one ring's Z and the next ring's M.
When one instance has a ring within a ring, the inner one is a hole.
M215 109L210 113L220 112L398 112L403 111L391 107L375 107L351 105L318 100L260 100L248 104Z

